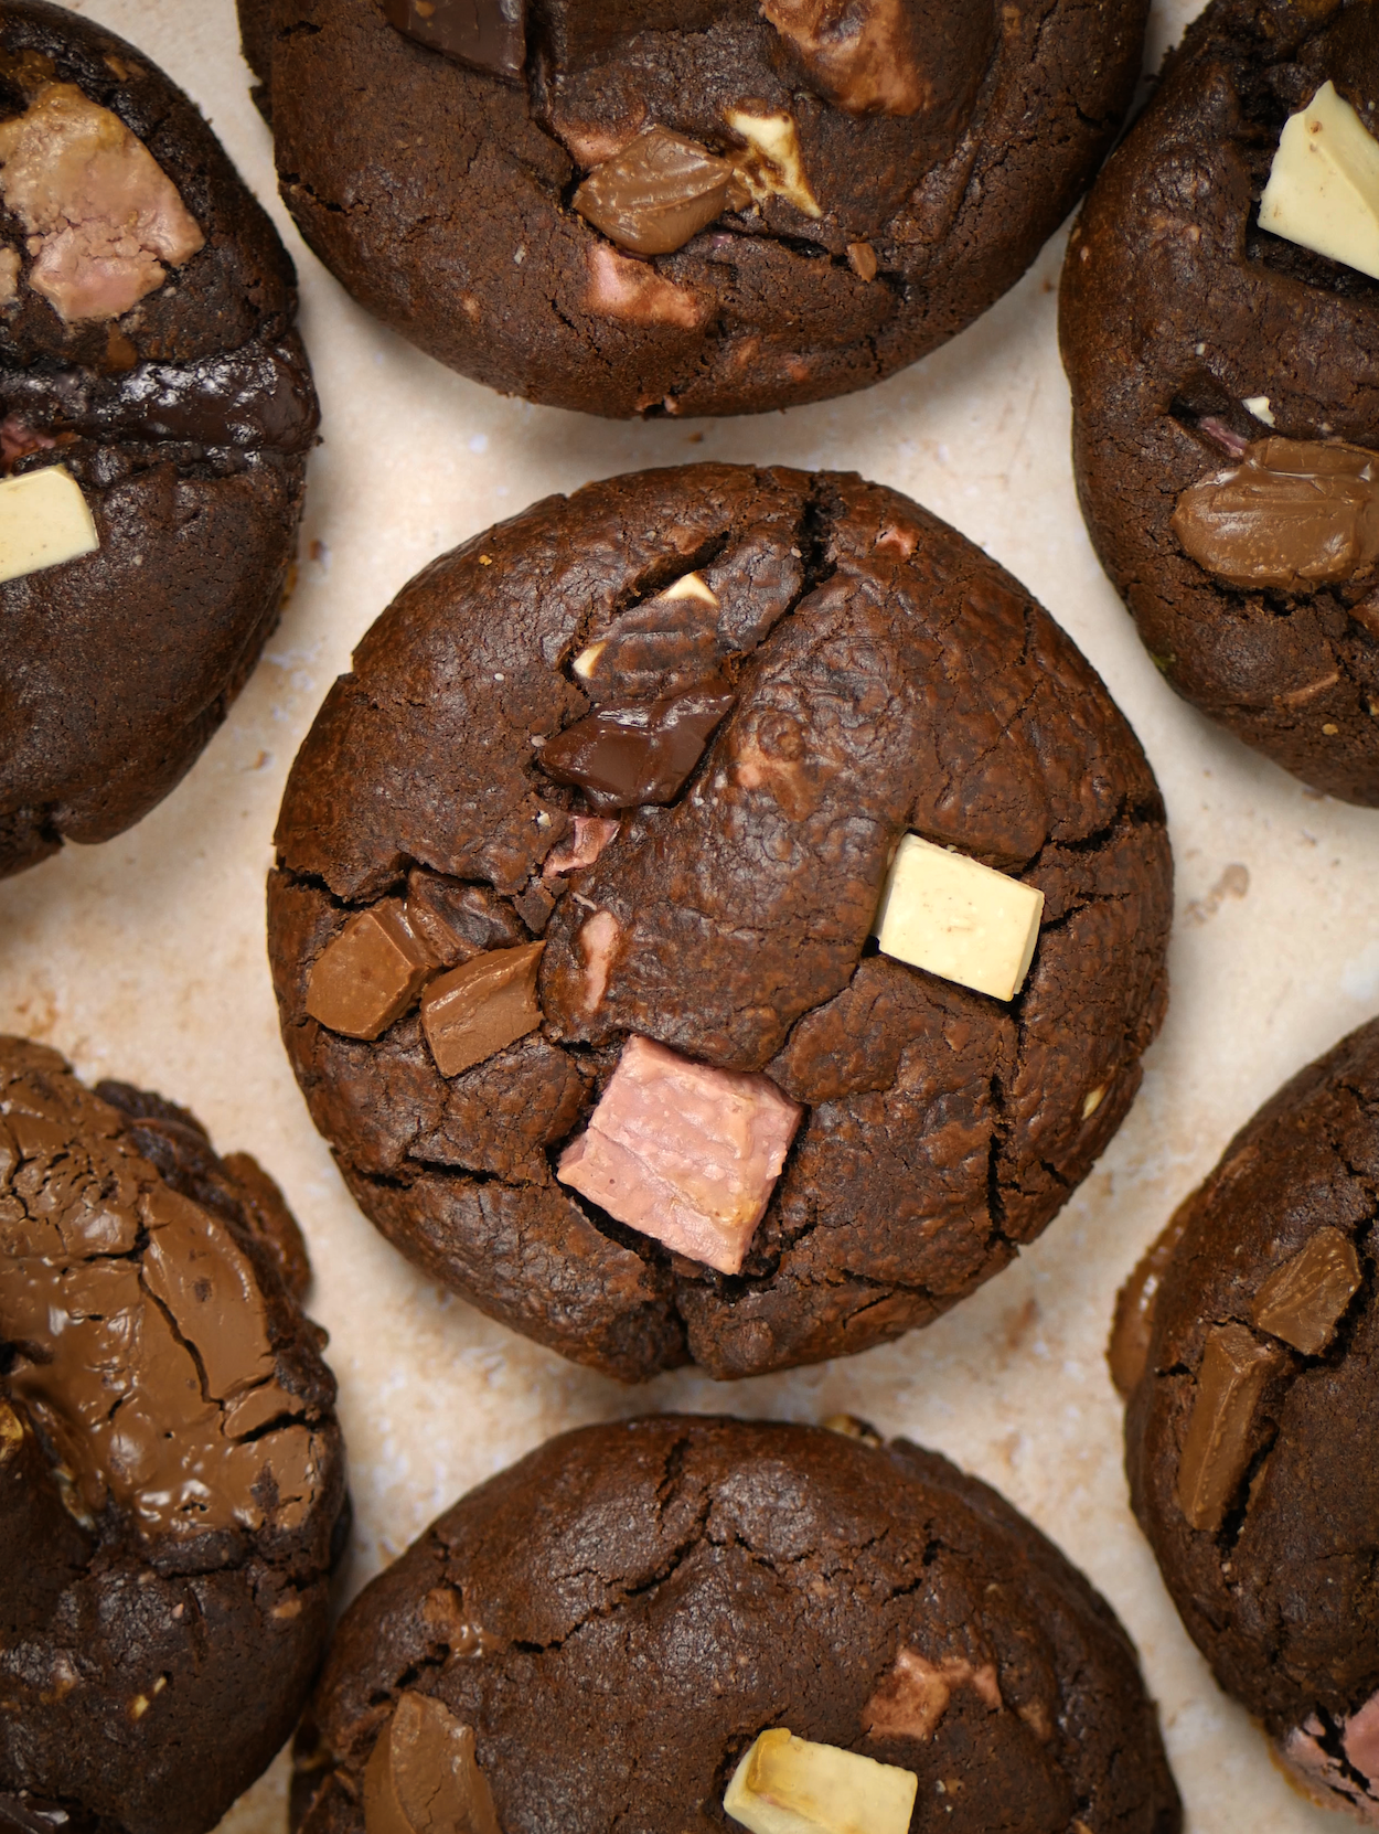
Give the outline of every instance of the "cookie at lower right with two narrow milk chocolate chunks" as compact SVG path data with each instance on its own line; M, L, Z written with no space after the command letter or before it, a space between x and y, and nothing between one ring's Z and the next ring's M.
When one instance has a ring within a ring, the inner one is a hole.
M1379 1827L1379 1020L1227 1146L1120 1295L1126 1471L1188 1634Z

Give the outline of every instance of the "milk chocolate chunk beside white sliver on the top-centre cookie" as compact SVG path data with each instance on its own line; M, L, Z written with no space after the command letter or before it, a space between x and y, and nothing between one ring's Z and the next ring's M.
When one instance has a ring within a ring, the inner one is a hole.
M574 194L579 215L634 255L673 255L730 202L748 202L732 163L664 127L594 167Z

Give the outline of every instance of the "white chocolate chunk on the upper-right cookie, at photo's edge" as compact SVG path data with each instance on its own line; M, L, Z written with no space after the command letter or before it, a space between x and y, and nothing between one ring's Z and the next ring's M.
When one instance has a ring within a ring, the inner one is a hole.
M1260 227L1379 281L1379 139L1335 84L1287 117Z

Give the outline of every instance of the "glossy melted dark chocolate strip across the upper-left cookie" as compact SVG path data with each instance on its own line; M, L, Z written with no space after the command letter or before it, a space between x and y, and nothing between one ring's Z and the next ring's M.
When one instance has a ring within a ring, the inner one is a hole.
M29 449L42 446L44 436L51 444L75 435L297 453L312 446L319 424L297 358L264 345L185 367L141 363L121 376L88 369L11 372L0 376L0 402L11 442Z

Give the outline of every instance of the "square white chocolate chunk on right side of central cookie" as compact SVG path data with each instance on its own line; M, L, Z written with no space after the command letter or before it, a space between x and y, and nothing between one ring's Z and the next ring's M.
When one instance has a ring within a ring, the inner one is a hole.
M1025 985L1043 893L919 834L897 847L873 935L884 956L996 1000Z

